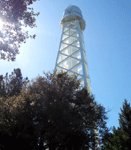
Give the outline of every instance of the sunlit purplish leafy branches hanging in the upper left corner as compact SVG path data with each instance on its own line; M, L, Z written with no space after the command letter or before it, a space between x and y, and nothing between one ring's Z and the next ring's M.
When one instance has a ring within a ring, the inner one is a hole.
M37 0L1 0L0 19L3 29L0 30L0 59L14 61L22 43L29 38L27 31L22 27L36 27L36 16L31 4ZM35 35L30 35L35 38Z

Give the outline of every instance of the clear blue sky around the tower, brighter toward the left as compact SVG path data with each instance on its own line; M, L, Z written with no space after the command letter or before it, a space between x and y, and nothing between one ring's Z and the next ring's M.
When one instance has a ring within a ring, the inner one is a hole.
M53 71L61 29L60 20L69 4L78 6L86 22L83 32L92 93L106 110L108 127L118 127L118 113L131 102L131 1L130 0L41 0L35 40L27 40L15 62L0 60L0 74L20 68L30 80Z

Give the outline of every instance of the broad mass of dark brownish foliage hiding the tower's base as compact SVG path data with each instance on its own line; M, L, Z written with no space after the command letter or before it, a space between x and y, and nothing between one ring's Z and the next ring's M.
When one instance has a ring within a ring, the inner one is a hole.
M106 129L106 112L86 88L78 90L78 87L77 78L67 73L45 73L24 87L19 95L6 101L1 99L0 135L5 135L0 139L1 149L8 149L2 140L6 136L11 143L28 143L30 149L92 148L95 122L101 140ZM12 148L18 149L13 144Z

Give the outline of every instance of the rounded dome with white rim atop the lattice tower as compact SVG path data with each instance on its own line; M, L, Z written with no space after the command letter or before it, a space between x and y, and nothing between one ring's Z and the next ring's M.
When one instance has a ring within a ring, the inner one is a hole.
M73 20L79 21L81 30L85 29L85 20L83 19L81 10L77 6L69 5L63 13L63 17L60 22L61 29L65 22L69 22L69 21L73 21Z

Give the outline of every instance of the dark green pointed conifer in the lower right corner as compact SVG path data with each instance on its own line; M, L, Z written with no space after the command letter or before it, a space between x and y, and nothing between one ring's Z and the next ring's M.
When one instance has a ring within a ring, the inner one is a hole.
M113 127L113 134L104 143L103 150L129 150L131 147L131 107L127 100L119 113L119 126Z

